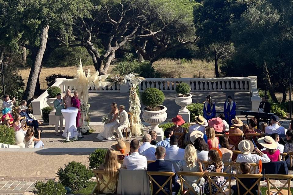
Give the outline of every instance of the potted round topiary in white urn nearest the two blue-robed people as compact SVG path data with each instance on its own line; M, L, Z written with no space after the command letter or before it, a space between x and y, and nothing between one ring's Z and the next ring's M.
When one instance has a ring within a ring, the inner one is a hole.
M179 83L176 85L175 103L181 106L179 112L188 112L186 106L192 103L192 95L190 92L190 86L187 83Z

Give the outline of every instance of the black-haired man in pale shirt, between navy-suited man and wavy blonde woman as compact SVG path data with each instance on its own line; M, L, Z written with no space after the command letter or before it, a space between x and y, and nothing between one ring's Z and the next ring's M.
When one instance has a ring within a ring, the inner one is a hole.
M166 148L165 160L182 160L184 157L184 149L178 147L178 139L172 135L170 137L170 147Z

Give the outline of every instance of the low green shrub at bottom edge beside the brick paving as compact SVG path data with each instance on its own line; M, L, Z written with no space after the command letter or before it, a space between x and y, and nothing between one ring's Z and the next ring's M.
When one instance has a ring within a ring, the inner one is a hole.
M38 195L64 195L67 192L62 183L54 182L52 179L46 183L38 181L34 187L38 190Z

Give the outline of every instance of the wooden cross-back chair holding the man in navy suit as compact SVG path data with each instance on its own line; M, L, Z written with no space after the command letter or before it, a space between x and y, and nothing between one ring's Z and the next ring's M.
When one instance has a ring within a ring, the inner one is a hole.
M173 172L158 172L158 171L147 171L147 175L150 177L150 184L152 187L152 194L157 195L160 191L164 192L166 195L168 193L164 190L164 186L170 182L170 195L172 195L172 177L175 175ZM168 179L165 181L165 183L161 186L160 184L157 183L157 181L152 177L152 176L166 176ZM156 193L153 193L154 190L154 185L153 182L159 187Z

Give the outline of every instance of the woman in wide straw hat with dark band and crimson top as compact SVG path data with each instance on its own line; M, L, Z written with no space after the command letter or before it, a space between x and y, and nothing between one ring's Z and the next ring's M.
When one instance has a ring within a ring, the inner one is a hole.
M271 162L281 161L280 151L277 150L277 142L273 140L270 136L261 137L257 140L257 142L266 148L266 150L262 151L263 154L266 154Z

